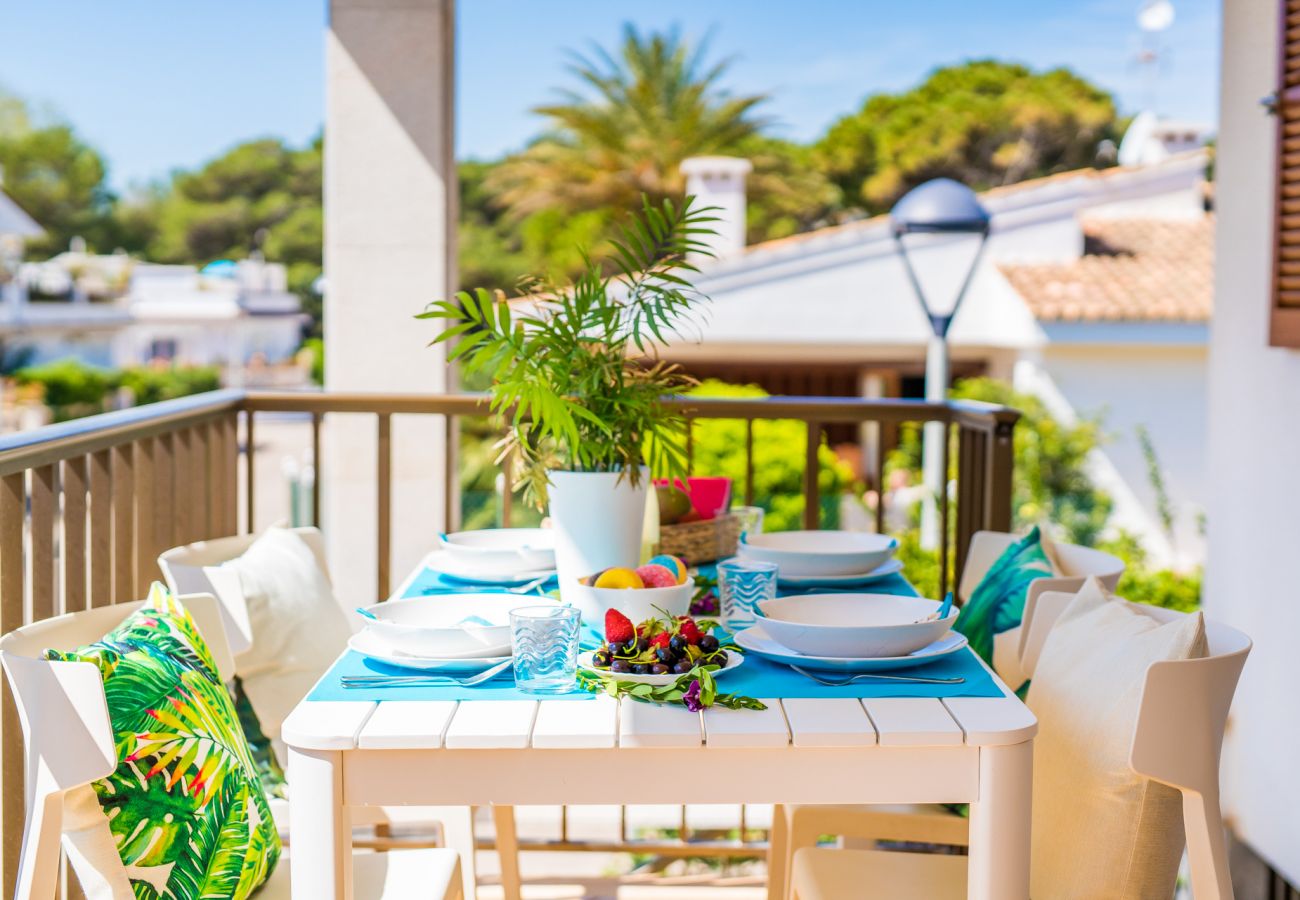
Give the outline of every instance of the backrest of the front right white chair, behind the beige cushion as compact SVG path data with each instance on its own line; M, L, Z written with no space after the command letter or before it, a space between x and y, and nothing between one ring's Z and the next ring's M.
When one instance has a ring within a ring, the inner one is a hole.
M1028 675L1037 667L1052 626L1072 598L1072 593L1049 590L1027 601L1022 666ZM1145 603L1128 605L1157 622L1186 615ZM1251 639L1209 620L1205 637L1204 658L1154 662L1147 668L1128 765L1139 775L1183 795L1192 892L1197 900L1218 900L1232 896L1219 808L1219 757Z

